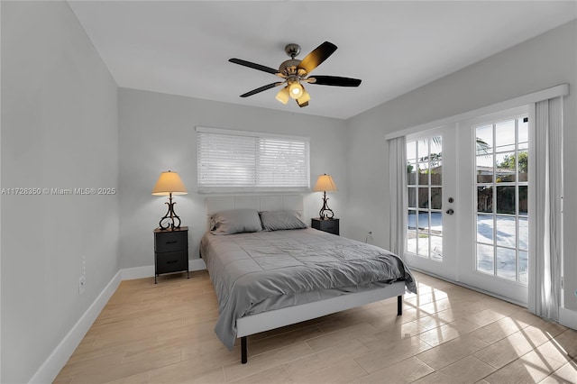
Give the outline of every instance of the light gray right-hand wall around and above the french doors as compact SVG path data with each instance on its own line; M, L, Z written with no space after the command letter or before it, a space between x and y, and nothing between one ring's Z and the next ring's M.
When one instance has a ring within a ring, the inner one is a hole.
M577 27L573 21L349 119L347 212L350 224L355 225L350 234L359 237L371 228L375 243L389 246L389 153L385 133L569 83L563 141L565 306L577 309L573 295L577 289L576 46Z

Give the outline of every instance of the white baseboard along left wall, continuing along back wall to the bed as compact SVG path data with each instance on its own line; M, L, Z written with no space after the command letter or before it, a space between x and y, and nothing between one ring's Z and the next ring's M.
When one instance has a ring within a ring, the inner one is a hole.
M189 270L206 270L205 261L195 259L188 261ZM143 279L154 277L154 266L125 268L119 270L114 278L106 285L103 291L96 297L96 300L88 307L87 311L80 317L78 322L70 329L64 339L50 353L50 356L41 365L40 369L34 373L31 383L48 383L54 381L60 370L69 361L72 352L76 350L82 338L87 334L90 326L96 321L96 317L104 309L106 303L112 297L116 288L122 280Z

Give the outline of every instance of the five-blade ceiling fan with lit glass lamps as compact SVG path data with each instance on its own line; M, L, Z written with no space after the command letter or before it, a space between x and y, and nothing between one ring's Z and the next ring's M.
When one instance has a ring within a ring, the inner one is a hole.
M279 78L284 78L283 81L270 83L266 86L252 89L252 91L241 95L241 97L252 96L262 91L266 91L267 89L284 85L285 87L282 87L282 89L280 89L279 93L277 94L277 100L279 100L279 102L282 104L287 104L289 102L289 98L293 98L297 101L298 106L302 108L303 106L307 106L308 101L310 100L310 95L308 95L307 90L305 87L303 87L303 83L335 87L359 87L361 84L361 80L358 78L341 78L338 76L308 76L313 69L316 69L316 67L325 61L325 59L328 59L335 50L336 45L334 45L332 42L325 41L316 47L315 50L311 51L305 57L305 59L299 60L295 59L295 57L300 53L300 46L295 43L287 44L285 47L285 52L287 52L287 55L290 56L290 59L283 61L280 64L279 69L273 69L243 59L229 59L229 61L244 67L269 72L278 76Z

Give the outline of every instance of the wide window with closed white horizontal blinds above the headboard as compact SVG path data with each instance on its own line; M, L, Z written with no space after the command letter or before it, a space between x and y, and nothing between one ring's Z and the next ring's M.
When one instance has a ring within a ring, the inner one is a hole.
M197 127L198 192L306 191L309 139Z

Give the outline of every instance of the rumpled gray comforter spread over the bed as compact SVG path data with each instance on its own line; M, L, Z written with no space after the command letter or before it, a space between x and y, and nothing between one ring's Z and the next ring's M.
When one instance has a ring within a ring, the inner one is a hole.
M236 319L405 280L397 256L379 247L315 229L215 235L200 242L219 304L215 333L232 349Z

